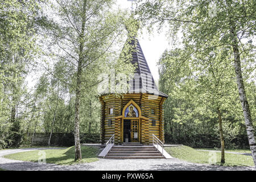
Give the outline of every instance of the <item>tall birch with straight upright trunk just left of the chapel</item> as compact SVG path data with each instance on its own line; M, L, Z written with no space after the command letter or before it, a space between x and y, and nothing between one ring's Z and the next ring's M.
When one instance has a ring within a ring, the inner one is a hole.
M100 82L98 74L110 73L111 69L118 68L117 65L124 68L122 72L133 72L130 63L117 59L120 49L117 45L123 40L126 15L119 9L113 10L113 3L111 0L53 1L58 13L53 16L55 18L49 18L53 26L48 36L55 45L51 54L64 60L69 68L65 72L69 79L60 80L75 94L75 160L82 159L79 135L81 89L89 92Z

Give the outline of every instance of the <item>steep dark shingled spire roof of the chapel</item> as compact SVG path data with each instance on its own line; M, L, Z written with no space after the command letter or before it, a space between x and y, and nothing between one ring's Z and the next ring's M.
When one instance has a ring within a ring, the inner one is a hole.
M131 63L137 64L137 68L135 69L133 81L130 81L129 93L150 93L168 97L167 94L158 90L138 39L131 40L130 44L134 46Z

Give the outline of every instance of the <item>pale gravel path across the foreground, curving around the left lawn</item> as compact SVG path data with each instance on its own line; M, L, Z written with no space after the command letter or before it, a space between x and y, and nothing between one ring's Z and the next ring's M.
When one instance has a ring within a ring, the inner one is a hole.
M7 154L16 152L31 151L31 150L45 150L55 148L20 148L13 150L0 150L0 168L7 170L22 170L22 171L144 171L144 170L158 170L158 171L243 171L255 170L254 167L223 167L211 166L207 164L195 164L184 162L179 159L100 159L97 162L76 164L72 166L61 166L56 164L39 164L33 162L24 162L19 160L11 160L2 158ZM58 148L59 149L59 148Z

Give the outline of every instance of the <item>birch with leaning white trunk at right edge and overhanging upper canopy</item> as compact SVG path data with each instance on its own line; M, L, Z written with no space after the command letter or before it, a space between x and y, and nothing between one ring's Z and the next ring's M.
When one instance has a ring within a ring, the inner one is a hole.
M233 52L230 64L236 73L237 90L245 119L251 154L256 166L256 140L250 107L247 101L242 67L245 57L254 49L255 1L140 1L137 9L144 25L159 29L167 23L170 37L183 34L186 55L225 47ZM172 40L174 40L172 39ZM212 42L216 39L216 42ZM245 46L246 45L246 46ZM186 56L181 61L185 61ZM254 59L255 57L251 57ZM253 66L253 63L250 63ZM254 65L255 66L255 65Z

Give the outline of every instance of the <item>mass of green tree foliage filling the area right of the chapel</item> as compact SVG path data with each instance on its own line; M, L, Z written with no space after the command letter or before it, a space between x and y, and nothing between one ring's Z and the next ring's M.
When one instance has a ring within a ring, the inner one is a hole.
M138 2L136 14L150 32L155 26L159 31L167 27L172 47L182 47L170 48L159 61L160 90L170 96L164 105L165 131L174 137L218 135L220 110L224 137L244 134L236 88L238 73L235 75L232 63L236 40L243 82L255 88L255 1L146 0ZM181 43L177 41L180 33ZM254 110L253 89L246 92ZM252 121L255 117L251 112Z

